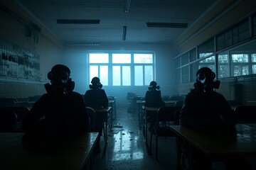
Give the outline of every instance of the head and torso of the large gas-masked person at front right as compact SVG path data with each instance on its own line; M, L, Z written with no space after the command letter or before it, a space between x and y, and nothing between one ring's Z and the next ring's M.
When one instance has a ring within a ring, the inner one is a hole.
M235 118L224 96L215 91L220 81L208 67L196 72L194 89L186 95L181 109L181 125L203 130L234 128Z

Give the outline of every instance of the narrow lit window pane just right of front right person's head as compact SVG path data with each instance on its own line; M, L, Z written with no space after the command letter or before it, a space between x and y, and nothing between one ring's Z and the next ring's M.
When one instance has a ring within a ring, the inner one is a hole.
M218 78L230 76L228 55L218 55Z

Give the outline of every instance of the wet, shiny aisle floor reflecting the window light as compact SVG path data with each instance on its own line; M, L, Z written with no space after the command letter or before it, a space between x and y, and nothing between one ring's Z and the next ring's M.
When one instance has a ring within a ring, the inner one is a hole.
M127 108L117 110L114 126L108 130L105 154L104 137L102 136L101 152L95 155L96 170L176 169L175 138L159 137L159 161L157 162L154 137L152 154L149 155L144 144L144 135L142 130L139 130L137 114L127 113Z

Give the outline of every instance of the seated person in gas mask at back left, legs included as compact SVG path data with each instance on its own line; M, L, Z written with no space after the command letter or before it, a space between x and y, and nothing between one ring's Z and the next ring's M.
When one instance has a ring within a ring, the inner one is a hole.
M97 108L107 108L108 107L108 99L105 90L102 89L102 84L100 83L100 79L98 77L93 77L91 84L89 85L90 90L85 92L84 100L87 107L97 109ZM96 115L95 118L95 131L100 133L102 136L102 128L103 128L103 120ZM100 137L97 140L95 149L97 152L100 152Z

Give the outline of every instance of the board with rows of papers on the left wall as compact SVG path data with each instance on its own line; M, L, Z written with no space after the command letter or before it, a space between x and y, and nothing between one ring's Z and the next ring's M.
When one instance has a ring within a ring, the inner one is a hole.
M40 81L39 55L0 39L0 77Z

